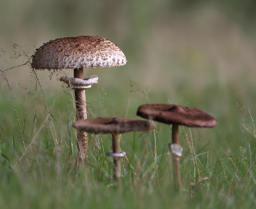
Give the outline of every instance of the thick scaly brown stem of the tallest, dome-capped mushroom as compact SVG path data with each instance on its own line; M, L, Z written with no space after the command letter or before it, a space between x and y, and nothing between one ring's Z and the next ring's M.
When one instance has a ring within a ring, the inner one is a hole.
M84 79L83 68L74 69L74 78ZM87 119L85 89L75 89L76 118ZM87 151L87 133L77 130L77 162L84 160Z

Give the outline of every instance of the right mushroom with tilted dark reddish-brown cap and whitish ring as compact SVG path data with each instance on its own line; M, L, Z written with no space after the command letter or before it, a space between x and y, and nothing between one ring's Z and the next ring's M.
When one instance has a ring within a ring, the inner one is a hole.
M211 128L216 126L216 119L195 108L170 104L141 105L138 108L137 115L142 118L172 125L170 151L173 159L173 180L175 188L181 190L179 157L182 155L182 147L179 144L179 125Z

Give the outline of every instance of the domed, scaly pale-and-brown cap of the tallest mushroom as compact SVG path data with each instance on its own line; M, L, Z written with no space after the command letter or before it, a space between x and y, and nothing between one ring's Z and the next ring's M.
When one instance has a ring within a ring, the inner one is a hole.
M44 43L32 56L36 70L125 65L126 58L115 43L98 36L57 38Z

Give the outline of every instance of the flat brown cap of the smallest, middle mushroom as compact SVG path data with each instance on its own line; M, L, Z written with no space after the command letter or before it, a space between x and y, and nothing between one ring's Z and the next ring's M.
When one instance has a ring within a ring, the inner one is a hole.
M154 124L147 120L129 118L90 118L78 120L72 127L93 134L121 134L124 132L152 130Z

